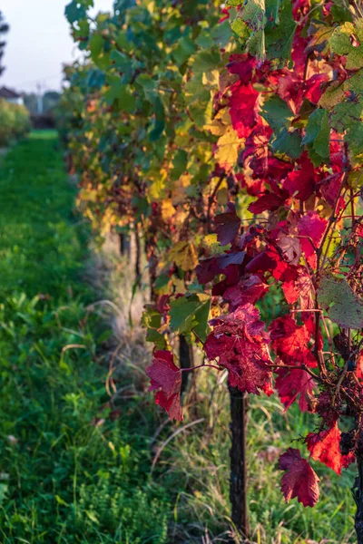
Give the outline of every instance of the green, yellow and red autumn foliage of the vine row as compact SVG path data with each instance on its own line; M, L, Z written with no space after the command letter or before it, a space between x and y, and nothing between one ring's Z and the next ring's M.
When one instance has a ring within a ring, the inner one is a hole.
M85 8L69 19L96 66L74 69L66 96L80 112L81 206L103 232L142 232L156 402L182 420L193 369L172 354L178 333L201 348L199 371L227 369L240 392L318 414L309 459L289 448L279 462L285 499L314 506L310 459L340 474L363 456L360 9L160 1L92 32ZM279 311L264 323L267 296Z

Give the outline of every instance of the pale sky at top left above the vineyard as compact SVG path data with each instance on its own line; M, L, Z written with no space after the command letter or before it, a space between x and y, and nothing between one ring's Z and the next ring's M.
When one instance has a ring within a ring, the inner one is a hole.
M79 56L64 17L69 0L0 0L0 10L10 24L6 34L0 87L35 91L39 82L46 90L58 90L62 64ZM94 0L95 11L110 11L113 0Z

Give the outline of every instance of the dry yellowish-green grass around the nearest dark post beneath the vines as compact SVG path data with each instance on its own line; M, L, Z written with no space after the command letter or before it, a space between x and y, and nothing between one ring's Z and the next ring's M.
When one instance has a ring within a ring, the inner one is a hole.
M191 419L204 417L205 422L201 423L199 432L180 435L162 458L163 469L169 477L171 472L179 474L181 497L176 534L187 529L187 541L195 543L200 542L206 529L210 535L221 534L231 515L228 393L211 378L201 380L204 386L199 385L199 409L197 412L194 409ZM214 388L211 414L208 401ZM283 500L281 472L277 468L279 455L292 446L308 458L309 452L299 443L299 437L313 428L309 416L299 410L292 408L283 414L277 398L251 398L247 442L253 542L353 544L357 541L353 525L355 506L350 491L355 467L338 477L324 465L312 461L321 480L317 506L305 509L296 500L289 504Z

